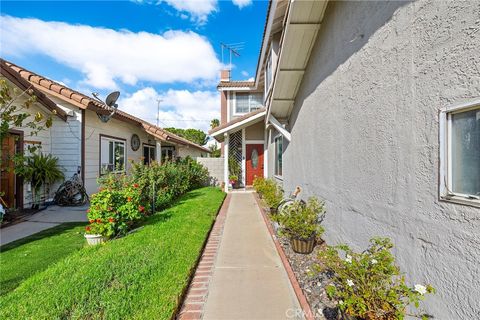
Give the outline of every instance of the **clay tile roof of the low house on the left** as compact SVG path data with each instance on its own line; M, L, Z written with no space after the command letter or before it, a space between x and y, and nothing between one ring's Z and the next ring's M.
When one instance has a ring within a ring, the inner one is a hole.
M20 66L17 66L11 62L8 62L6 60L1 59L2 61L2 67L5 65L11 70L13 70L15 74L20 75L21 80L23 81L29 81L27 84L33 84L34 88L38 88L42 91L45 91L49 94L52 94L53 96L56 96L60 99L66 100L67 102L82 108L82 109L89 109L93 111L99 111L99 110L107 110L106 106L94 98L91 98L87 95L84 95L83 93L80 93L78 91L72 90L70 88L65 87L64 85L57 83L55 81L52 81L50 79L47 79L45 77L42 77L36 73L33 73L31 71L28 71L26 69L23 69ZM3 69L3 68L2 68ZM3 74L3 72L2 72ZM38 90L37 90L38 91ZM39 94L42 96L46 97L42 92L38 91ZM36 94L37 95L37 94ZM51 101L51 104L55 106L55 108L58 108L58 106ZM63 114L65 112L58 108ZM121 110L117 110L114 116L116 119L119 119L121 121L127 121L127 122L133 122L140 127L144 128L144 130L150 134L152 134L154 137L163 140L163 141L172 141L175 143L179 143L182 145L188 145L192 146L196 149L202 150L204 152L210 152L208 148L202 147L196 143L193 143L187 139L184 139L182 137L179 137L173 133L170 133L160 127L157 127L153 124L150 124L140 118L137 118L129 113L126 113ZM65 119L66 119L66 114L65 114Z

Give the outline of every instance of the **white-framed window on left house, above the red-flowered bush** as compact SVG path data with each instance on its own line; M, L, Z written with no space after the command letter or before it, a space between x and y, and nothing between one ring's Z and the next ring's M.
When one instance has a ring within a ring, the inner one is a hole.
M125 170L125 140L100 136L100 174Z

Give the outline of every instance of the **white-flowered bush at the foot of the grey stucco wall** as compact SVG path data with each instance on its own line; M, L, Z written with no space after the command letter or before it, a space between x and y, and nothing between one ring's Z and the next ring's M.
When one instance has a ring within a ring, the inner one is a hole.
M347 245L329 247L319 253L320 270L334 273L327 294L338 301L343 314L368 320L404 319L407 306L419 302L435 289L417 284L405 284L405 276L395 265L388 238L373 238L362 253L353 252ZM339 256L343 252L345 259ZM428 315L413 315L426 319Z

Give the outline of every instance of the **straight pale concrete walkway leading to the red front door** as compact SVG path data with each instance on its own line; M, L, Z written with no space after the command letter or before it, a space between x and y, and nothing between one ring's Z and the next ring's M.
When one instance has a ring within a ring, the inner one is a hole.
M206 320L302 318L252 193L231 194L208 288L203 308Z

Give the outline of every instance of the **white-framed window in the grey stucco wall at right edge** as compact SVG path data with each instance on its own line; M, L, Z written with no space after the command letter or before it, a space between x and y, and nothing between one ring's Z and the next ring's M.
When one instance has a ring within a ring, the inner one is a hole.
M440 198L480 207L480 100L440 111Z

